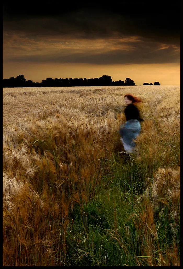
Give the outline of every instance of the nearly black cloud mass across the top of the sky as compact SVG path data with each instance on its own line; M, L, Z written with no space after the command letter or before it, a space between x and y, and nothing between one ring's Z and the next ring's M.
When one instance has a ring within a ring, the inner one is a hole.
M179 5L78 3L62 6L58 2L3 7L3 31L28 37L72 36L73 38L109 38L113 34L142 36L154 41L179 45Z

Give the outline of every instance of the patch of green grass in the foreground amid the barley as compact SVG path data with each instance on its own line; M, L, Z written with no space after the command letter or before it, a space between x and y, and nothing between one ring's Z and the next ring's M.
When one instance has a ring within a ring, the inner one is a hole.
M119 156L116 156L114 162L109 162L111 175L108 175L108 178L111 179L103 191L96 188L95 197L87 204L77 206L70 216L74 221L67 230L66 264L175 266L175 259L170 257L167 249L173 249L174 243L177 246L180 244L180 221L178 220L178 225L172 232L171 225L174 222L168 217L171 204L163 204L164 214L160 217L159 210L162 205L160 208L153 208L150 201L147 201L148 205L135 202L134 198L146 187L146 182L141 181L142 173L150 176L150 171L145 166L142 171L142 167L139 167L133 158L129 158L126 164L121 164L119 159L117 162L117 158ZM157 167L159 164L154 169ZM107 176L103 179L106 182ZM148 216L143 221L139 215L141 212L146 213L149 204L152 207L156 235L147 223ZM162 260L160 253L165 257ZM180 254L179 251L177 254Z

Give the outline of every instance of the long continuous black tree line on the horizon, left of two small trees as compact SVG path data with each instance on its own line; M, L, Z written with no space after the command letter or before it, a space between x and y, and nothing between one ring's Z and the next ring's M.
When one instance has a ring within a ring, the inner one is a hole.
M129 77L123 80L112 81L111 76L101 76L99 78L87 79L87 78L66 78L66 79L52 79L48 77L43 79L42 82L33 82L32 80L26 80L24 75L19 75L16 78L10 77L9 79L3 79L3 88L13 87L71 87L71 86L136 86L134 81Z

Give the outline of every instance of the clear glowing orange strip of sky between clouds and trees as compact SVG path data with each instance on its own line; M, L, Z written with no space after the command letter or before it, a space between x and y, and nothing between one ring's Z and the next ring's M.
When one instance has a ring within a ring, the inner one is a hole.
M158 81L161 85L180 85L180 65L175 63L146 64L146 65L90 65L74 63L12 63L4 64L3 78L18 76L33 82L41 82L47 77L55 78L95 78L103 75L111 76L113 81L123 80L130 77L136 85L144 82L154 83Z

